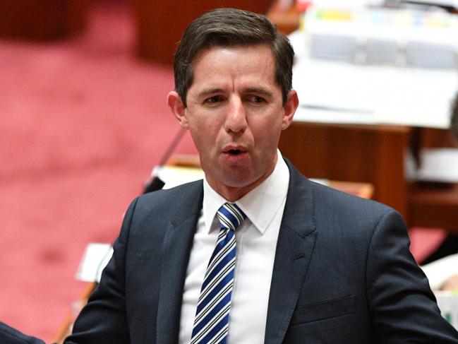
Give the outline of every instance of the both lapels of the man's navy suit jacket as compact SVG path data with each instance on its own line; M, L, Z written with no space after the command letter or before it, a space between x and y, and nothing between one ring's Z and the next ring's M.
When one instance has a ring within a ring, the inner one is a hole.
M265 344L279 344L287 332L315 244L313 189L287 162L290 179L280 225L267 311ZM181 300L195 227L203 201L203 183L194 182L177 200L180 213L170 220L162 244L156 343L176 344Z

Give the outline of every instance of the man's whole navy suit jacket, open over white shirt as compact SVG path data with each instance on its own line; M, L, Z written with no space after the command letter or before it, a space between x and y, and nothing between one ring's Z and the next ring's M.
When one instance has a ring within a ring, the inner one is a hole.
M458 344L410 254L401 216L288 165L264 343ZM178 342L202 201L202 181L133 201L66 343Z

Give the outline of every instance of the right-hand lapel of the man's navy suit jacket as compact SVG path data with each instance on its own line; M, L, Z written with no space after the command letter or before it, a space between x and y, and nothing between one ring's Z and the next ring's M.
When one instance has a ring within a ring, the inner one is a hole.
M290 182L270 285L265 344L282 343L315 245L313 190L287 161Z

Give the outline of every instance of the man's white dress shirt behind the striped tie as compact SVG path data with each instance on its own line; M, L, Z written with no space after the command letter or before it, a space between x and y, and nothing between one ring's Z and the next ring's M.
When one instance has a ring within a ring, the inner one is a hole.
M264 343L275 248L289 185L289 170L277 151L275 170L235 203L247 218L236 230L236 266L228 343ZM186 271L179 343L191 341L195 309L205 270L219 233L216 213L227 201L204 179L203 209Z

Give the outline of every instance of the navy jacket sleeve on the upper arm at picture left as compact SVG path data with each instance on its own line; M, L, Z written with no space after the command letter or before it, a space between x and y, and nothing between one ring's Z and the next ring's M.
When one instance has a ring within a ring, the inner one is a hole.
M126 248L137 200L124 216L121 233L113 245L114 253L102 273L99 285L88 300L73 326L66 344L130 343L126 318Z

